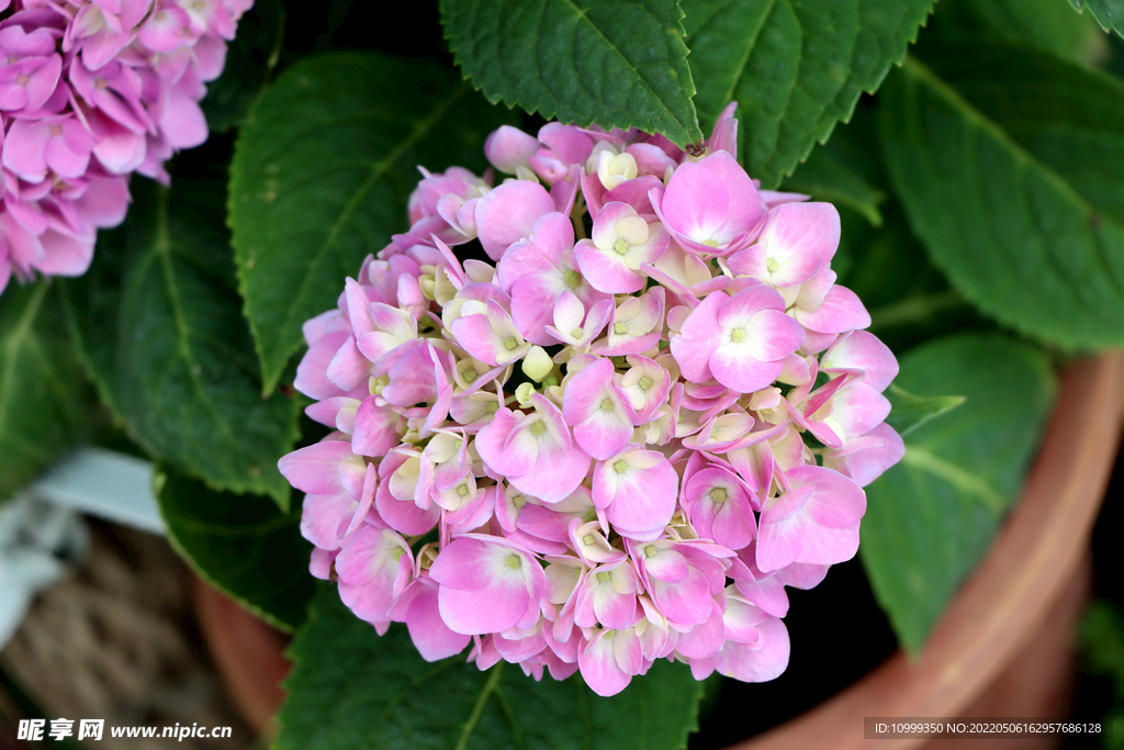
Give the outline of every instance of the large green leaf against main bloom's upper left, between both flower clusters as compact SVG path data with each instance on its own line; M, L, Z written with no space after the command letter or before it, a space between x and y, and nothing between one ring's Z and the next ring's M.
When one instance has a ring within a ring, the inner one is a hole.
M482 169L504 116L452 71L373 53L309 57L270 85L239 132L229 202L264 392L305 345L301 324L407 231L416 166Z

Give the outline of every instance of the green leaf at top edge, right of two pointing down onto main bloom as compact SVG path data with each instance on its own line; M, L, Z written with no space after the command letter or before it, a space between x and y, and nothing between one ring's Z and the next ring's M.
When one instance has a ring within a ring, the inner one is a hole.
M709 127L738 102L738 159L773 188L851 119L933 0L683 0L695 103Z

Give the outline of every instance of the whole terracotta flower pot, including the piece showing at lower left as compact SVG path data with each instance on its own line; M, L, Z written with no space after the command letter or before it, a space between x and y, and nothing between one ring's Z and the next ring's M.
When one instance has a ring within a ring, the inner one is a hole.
M1089 535L1116 455L1124 353L1066 368L1023 494L921 657L899 652L846 690L729 750L905 750L863 739L864 716L1058 716L1090 585ZM199 621L246 721L268 731L288 674L284 636L197 581ZM1010 748L1049 748L1060 738ZM948 747L941 743L936 747Z

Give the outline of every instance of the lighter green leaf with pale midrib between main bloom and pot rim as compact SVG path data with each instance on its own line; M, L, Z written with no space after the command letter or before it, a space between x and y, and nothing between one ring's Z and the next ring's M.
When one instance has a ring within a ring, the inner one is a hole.
M900 365L900 388L967 397L906 435L903 461L867 488L863 566L916 652L1017 497L1055 385L1041 352L1000 336L941 338Z

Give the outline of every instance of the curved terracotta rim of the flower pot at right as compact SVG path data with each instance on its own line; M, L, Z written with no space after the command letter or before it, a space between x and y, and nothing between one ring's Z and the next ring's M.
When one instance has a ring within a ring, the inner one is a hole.
M903 651L843 692L726 750L913 750L863 738L864 716L959 716L1027 644L1077 573L1120 444L1124 352L1062 371L1018 501L922 653Z

